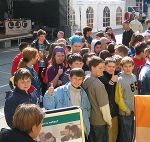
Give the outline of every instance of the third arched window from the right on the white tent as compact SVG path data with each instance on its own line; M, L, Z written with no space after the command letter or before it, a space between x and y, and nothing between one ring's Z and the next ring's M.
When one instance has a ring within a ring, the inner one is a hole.
M88 7L86 10L87 26L93 28L94 10L92 7Z

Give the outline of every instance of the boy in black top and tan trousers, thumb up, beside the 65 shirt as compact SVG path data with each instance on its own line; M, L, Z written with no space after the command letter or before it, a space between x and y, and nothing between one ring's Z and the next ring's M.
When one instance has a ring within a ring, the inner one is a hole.
M114 75L116 69L116 61L112 58L105 59L104 75L100 77L100 81L105 85L108 93L110 112L112 117L112 128L109 129L109 142L116 142L118 136L118 106L115 103L115 88L118 76Z

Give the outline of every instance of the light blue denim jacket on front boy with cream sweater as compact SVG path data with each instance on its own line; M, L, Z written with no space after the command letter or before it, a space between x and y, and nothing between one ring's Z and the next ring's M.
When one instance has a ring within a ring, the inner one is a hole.
M72 106L71 99L70 99L70 92L69 92L69 83L60 86L54 90L53 95L49 95L48 91L45 93L43 97L43 106L45 109L57 109L57 108L63 108L63 107L70 107ZM81 109L83 113L83 121L85 125L85 131L87 136L90 132L90 103L87 97L86 92L83 88L81 88Z

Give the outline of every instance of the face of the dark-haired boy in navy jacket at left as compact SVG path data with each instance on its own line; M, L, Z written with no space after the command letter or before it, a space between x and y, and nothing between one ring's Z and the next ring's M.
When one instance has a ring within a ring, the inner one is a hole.
M20 90L27 92L31 86L31 79L30 78L19 79L16 85Z

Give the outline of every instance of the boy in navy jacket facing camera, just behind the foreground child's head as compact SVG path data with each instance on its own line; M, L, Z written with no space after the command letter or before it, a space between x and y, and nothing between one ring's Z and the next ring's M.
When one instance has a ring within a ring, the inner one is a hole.
M12 127L14 112L20 104L37 103L37 98L33 98L28 90L31 86L32 75L28 69L20 68L14 75L14 84L16 88L6 93L6 102L4 113L7 125Z

